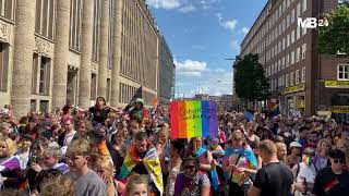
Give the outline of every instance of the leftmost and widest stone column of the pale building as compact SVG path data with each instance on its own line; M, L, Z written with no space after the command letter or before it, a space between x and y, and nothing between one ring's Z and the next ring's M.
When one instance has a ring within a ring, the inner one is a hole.
M15 8L13 81L11 105L16 118L31 110L33 51L35 48L35 1L17 1Z

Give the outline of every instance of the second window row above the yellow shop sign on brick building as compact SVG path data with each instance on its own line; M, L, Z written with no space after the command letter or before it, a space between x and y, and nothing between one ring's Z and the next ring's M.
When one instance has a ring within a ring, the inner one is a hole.
M302 45L302 48L296 48L290 53L287 53L285 57L272 63L269 66L265 68L265 75L268 77L281 70L298 63L301 60L304 60L306 57L306 44Z

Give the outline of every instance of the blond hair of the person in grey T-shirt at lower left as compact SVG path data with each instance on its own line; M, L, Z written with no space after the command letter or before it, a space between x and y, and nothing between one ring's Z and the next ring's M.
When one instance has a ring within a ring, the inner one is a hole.
M89 156L89 143L84 138L73 140L67 149L68 157Z

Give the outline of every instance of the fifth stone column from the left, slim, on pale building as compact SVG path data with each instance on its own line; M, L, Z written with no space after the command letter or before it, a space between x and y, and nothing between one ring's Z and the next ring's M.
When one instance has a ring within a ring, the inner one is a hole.
M123 0L116 0L116 17L115 17L115 34L112 37L112 70L111 70L111 96L110 96L110 105L116 107L119 103L119 72L121 66L121 36L122 36L122 7Z

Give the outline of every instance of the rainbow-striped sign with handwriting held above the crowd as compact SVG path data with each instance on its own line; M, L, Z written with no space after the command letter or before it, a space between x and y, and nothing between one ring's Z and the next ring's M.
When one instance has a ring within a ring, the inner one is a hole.
M172 139L218 136L215 101L172 101L170 111Z

